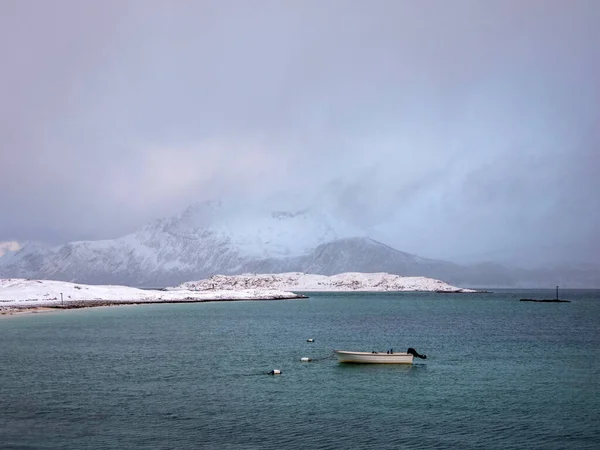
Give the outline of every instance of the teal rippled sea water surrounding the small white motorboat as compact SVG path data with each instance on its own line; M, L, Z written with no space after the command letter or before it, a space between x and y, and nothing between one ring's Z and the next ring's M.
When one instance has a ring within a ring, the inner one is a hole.
M518 301L552 295L313 294L4 318L0 447L597 449L600 291ZM428 359L299 361L407 347Z

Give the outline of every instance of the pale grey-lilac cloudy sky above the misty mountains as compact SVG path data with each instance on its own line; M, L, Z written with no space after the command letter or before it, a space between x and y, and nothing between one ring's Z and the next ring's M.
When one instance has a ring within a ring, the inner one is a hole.
M596 0L0 0L0 252L232 199L422 256L600 263L599 22Z

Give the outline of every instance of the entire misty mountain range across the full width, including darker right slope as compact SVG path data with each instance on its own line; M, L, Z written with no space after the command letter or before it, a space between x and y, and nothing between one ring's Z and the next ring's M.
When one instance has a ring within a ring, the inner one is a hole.
M25 245L0 257L0 277L174 286L212 275L388 272L463 287L596 287L593 265L536 269L422 258L370 238L320 209L244 210L203 202L114 240Z

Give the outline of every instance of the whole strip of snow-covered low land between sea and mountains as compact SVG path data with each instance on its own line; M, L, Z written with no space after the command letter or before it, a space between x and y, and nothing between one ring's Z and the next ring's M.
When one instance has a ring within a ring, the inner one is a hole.
M87 285L53 280L0 279L0 310L82 308L139 303L182 303L305 298L298 292L444 292L471 293L426 277L349 272L333 276L299 272L215 275L164 290Z

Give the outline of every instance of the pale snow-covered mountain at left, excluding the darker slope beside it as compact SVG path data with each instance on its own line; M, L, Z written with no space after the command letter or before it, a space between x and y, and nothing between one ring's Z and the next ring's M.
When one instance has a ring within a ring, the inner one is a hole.
M0 277L173 285L240 273L264 259L293 261L323 243L357 234L321 210L261 212L205 202L114 240L27 246L0 257Z

